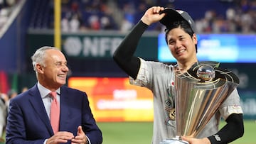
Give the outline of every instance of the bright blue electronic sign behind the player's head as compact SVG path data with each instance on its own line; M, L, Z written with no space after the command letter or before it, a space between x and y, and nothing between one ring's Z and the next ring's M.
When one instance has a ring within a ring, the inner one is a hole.
M217 62L256 62L256 35L198 34L198 60ZM165 35L159 35L158 59L176 62L166 45Z

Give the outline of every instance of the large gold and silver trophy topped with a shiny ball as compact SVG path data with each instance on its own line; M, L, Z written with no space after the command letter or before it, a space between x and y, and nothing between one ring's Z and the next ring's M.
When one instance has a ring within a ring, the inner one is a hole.
M238 87L238 77L218 66L218 62L196 62L185 73L176 70L176 137L160 144L188 144L181 136L196 138L220 104Z

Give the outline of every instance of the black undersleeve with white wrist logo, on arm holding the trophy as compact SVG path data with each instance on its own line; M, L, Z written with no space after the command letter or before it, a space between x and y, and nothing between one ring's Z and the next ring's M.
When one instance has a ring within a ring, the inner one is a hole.
M215 135L208 137L211 144L226 144L237 138L242 137L244 133L242 114L233 113L228 116L227 124Z

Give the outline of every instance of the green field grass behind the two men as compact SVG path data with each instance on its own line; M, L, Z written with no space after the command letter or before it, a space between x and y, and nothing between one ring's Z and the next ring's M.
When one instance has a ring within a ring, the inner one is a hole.
M103 144L150 144L153 131L151 122L97 123L102 130ZM223 126L224 123L221 123ZM232 144L255 144L256 123L245 121L245 134Z

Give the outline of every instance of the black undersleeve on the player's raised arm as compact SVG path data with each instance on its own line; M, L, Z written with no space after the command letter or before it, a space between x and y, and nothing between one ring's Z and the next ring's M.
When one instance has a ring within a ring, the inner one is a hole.
M138 57L134 57L134 52L137 49L139 39L148 27L149 26L145 23L139 21L137 25L132 28L132 31L124 38L122 43L120 43L113 55L113 59L117 62L117 65L134 79L137 79L140 67L140 60Z

